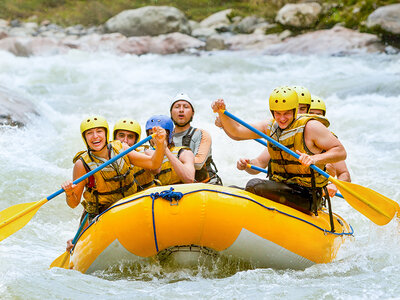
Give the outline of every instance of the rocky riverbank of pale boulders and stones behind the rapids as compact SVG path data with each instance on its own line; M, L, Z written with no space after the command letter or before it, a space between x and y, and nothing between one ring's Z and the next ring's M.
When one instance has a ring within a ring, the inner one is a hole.
M255 16L231 17L230 9L195 22L171 6L125 10L103 25L90 28L63 28L49 21L37 24L0 20L0 49L17 56L54 55L71 49L136 55L218 50L272 55L398 51L395 45L400 40L400 4L379 7L368 17L365 26L375 34L342 24L313 31L324 10L326 7L318 2L286 4L278 11L275 23ZM387 43L388 37L393 45Z

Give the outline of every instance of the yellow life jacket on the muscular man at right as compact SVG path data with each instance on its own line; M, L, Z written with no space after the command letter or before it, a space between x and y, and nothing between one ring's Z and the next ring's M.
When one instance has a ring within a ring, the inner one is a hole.
M308 121L318 120L326 127L329 121L323 116L315 115L299 115L296 120L286 129L281 130L275 120L268 123L267 135L278 141L290 150L312 155L304 141L304 128ZM268 152L271 156L269 165L270 179L277 182L295 183L305 187L313 187L312 182L315 180L315 187L324 187L328 184L328 179L317 172L312 172L310 167L303 166L299 160L285 151L268 143ZM321 165L319 165L321 167ZM324 169L325 166L323 165ZM314 180L312 179L314 173Z

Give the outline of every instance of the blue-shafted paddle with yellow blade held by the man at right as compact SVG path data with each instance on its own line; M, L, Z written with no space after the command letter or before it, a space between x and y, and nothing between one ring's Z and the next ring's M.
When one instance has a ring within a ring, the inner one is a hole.
M246 122L232 115L230 112L226 110L221 111L232 120L235 120L247 129L266 139L268 142L274 144L276 147L299 159L300 155L280 144L279 142L275 141L265 133L247 124ZM310 165L310 168L328 178L330 182L334 183L343 195L344 199L347 201L347 203L349 203L354 209L358 210L360 213L362 213L364 216L366 216L377 225L385 225L389 223L395 216L396 212L400 211L400 207L397 202L379 194L374 190L355 183L345 182L333 178L328 173L322 171L315 165Z

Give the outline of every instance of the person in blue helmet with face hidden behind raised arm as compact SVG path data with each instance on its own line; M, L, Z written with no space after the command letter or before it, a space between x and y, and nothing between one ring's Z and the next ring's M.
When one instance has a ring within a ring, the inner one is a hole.
M161 167L154 170L156 179L162 185L194 182L194 154L189 147L175 147L173 142L174 123L171 118L164 115L155 115L149 118L146 122L147 135L152 134L154 126L164 128L167 132L164 160ZM150 144L154 147L152 141ZM147 150L147 153L150 154L151 151L154 150Z

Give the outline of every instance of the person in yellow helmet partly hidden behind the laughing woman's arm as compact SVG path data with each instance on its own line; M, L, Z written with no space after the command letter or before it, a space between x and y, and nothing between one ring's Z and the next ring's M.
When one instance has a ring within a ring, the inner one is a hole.
M129 147L133 146L140 140L142 129L136 120L123 118L118 120L114 125L113 137L114 140L119 140L121 143L126 143ZM145 147L137 148L136 151L144 153ZM158 185L153 173L150 170L139 166L131 165L133 176L135 177L138 191L143 191L148 188Z

